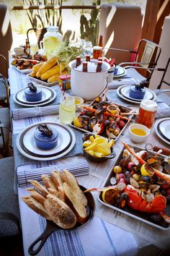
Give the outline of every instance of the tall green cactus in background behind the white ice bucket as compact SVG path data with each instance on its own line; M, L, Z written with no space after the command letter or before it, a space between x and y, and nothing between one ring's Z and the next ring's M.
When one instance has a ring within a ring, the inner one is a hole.
M92 2L92 5L100 5L100 4L101 4L101 0ZM81 38L91 41L92 45L96 46L98 41L98 33L99 33L99 9L91 9L90 16L91 18L87 20L84 14L81 14L81 17L80 17Z

